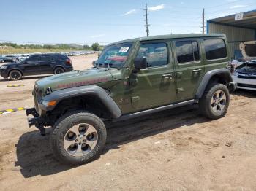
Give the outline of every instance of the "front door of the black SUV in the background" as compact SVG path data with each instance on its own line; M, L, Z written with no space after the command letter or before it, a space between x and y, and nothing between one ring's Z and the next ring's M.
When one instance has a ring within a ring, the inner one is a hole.
M40 74L39 66L40 55L32 55L23 62L23 74L24 75L35 75Z

